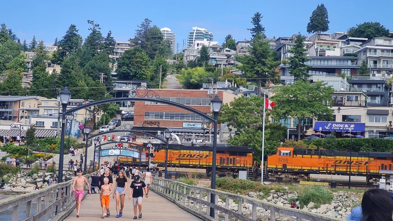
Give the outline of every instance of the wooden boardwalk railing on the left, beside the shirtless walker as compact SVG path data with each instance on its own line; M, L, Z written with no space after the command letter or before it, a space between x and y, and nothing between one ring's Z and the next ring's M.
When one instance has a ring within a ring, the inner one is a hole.
M92 174L86 175L90 178ZM23 195L5 198L0 203L0 212L12 210L12 221L17 220L62 220L75 208L72 181L53 184ZM88 191L85 191L86 195ZM24 212L26 210L26 213ZM26 214L25 217L18 217Z

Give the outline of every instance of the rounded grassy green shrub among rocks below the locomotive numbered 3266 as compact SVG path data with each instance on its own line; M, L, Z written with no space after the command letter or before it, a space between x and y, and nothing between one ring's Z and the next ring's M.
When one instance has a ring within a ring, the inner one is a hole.
M333 193L322 186L298 186L296 191L301 206L307 206L310 202L316 205L329 204L333 200Z

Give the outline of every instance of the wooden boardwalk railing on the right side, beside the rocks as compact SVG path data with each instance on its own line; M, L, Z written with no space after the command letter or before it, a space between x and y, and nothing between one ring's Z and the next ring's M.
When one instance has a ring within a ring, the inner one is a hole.
M182 209L202 218L203 220L257 220L265 211L270 211L271 221L276 220L276 214L296 217L297 221L342 221L334 217L311 213L294 208L278 206L263 202L248 196L213 190L203 187L190 186L181 182L154 178L151 189L177 204ZM210 203L210 194L215 194L215 204ZM220 202L219 202L220 200ZM237 208L236 208L237 207ZM215 218L210 217L210 208L215 210ZM231 209L232 208L232 209ZM247 210L245 210L247 208ZM243 209L243 210L242 210ZM243 215L246 214L246 215Z

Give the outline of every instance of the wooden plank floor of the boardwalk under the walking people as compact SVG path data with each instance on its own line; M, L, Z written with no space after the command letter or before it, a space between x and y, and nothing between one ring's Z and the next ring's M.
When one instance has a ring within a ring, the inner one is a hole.
M128 190L126 193L126 198L124 200L124 210L123 216L120 218L116 218L116 200L111 196L111 203L109 205L111 216L105 217L101 219L102 209L100 207L100 194L93 193L91 195L86 195L82 200L82 205L80 208L79 218L76 217L76 208L67 216L64 220L67 221L95 221L95 220L133 220L134 217L134 207L133 200L128 200ZM191 213L188 213L178 207L176 204L166 200L166 198L156 194L153 191L149 191L149 197L143 197L142 203L142 218L137 220L187 220L187 221L196 221L202 220Z

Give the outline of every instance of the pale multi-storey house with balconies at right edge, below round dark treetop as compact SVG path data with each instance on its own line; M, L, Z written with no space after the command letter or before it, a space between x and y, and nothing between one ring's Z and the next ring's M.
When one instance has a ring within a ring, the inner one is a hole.
M389 80L393 74L393 38L376 37L360 45L360 61L365 60L370 76Z

